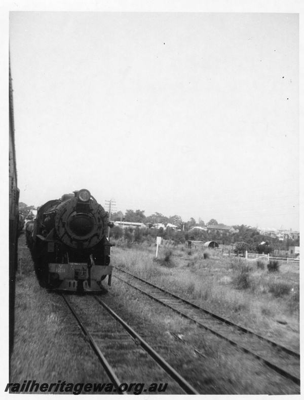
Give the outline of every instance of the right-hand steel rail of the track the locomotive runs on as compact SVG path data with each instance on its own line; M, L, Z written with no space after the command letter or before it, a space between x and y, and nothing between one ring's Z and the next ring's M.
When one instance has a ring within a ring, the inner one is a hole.
M101 306L115 318L128 332L128 334L140 344L140 346L179 384L186 394L200 394L193 386L191 386L181 375L175 371L168 362L161 357L150 345L147 344L130 325L128 325L121 317L111 310L98 296L94 295L95 299Z

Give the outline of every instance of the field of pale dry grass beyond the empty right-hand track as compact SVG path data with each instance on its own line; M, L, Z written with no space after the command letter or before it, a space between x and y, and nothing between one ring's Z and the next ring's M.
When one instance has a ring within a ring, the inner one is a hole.
M135 275L299 351L298 265L282 264L280 272L270 274L255 262L218 250L208 250L209 258L182 246L170 250L170 269L153 262L155 248L144 245L116 248L112 264L123 264ZM159 257L166 251L168 247L161 247ZM284 326L278 322L282 320Z

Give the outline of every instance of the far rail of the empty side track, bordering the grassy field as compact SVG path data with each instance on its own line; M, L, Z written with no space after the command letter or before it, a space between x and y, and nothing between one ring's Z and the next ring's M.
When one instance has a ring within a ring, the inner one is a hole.
M121 271L121 272L124 272L125 274L130 275L130 276L132 276L133 278L138 279L139 281L145 283L146 285L149 285L149 286L151 286L151 287L154 287L155 289L161 290L163 293L169 294L170 296L176 298L177 300L182 301L183 303L187 304L188 306L191 306L191 307L193 307L193 308L195 308L195 309L197 309L197 310L200 310L200 311L204 312L205 314L208 314L208 315L210 315L211 317L213 317L213 318L215 318L215 319L217 319L217 320L219 320L219 321L225 323L226 325L234 326L234 327L238 328L239 330L241 330L242 332L244 332L245 334L250 334L250 335L256 336L258 339L263 340L263 341L265 341L265 342L271 344L271 345L274 346L274 347L278 347L280 350L284 351L285 353L290 354L290 355L292 355L292 356L294 356L294 357L300 359L300 355L299 355L298 353L296 353L295 351L293 351L293 350L291 350L291 349L288 349L287 347L284 347L284 346L282 346L282 345L280 345L280 344L278 344L278 343L276 343L276 342L273 342L273 341L270 340L270 339L264 338L263 336L260 336L259 334L257 334L256 332L254 332L254 331L252 331L252 330L250 330L250 329L248 329L248 328L245 328L245 327L243 327L243 326L241 326L241 325L238 325L238 324L236 324L236 323L234 323L234 322L232 322L232 321L229 321L229 320L227 320L227 319L225 319L225 318L223 318L223 317L221 317L221 316L219 316L219 315L216 315L216 314L212 313L211 311L208 311L208 310L206 310L206 309L204 309L204 308L198 306L198 305L195 304L195 303L189 302L189 301L186 300L185 298L179 297L178 295L176 295L176 294L174 294L174 293L171 293L171 292L169 292L168 290L165 290L165 289L163 289L163 288L161 288L161 287L159 287L159 286L157 286L157 285L155 285L155 284L153 284L153 283L151 283L151 282L148 282L148 281L146 281L146 280L144 280L144 279L142 279L142 278L139 278L138 276L133 275L133 274L131 274L131 273L128 272L128 271L122 270L122 269L119 268L119 267L115 267L115 269L116 269L116 270L119 270L119 271ZM118 278L119 278L119 277L118 277Z

